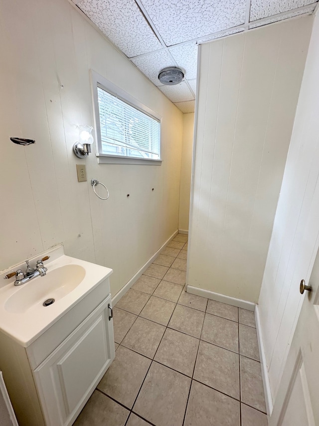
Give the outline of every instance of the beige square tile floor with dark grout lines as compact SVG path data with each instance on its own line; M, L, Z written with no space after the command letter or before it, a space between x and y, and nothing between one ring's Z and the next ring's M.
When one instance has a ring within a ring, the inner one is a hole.
M184 291L178 234L114 307L116 357L76 426L267 426L254 313Z

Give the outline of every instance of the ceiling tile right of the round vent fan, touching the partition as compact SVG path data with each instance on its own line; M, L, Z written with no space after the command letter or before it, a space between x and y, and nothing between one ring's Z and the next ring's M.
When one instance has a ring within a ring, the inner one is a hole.
M197 51L196 43L182 44L170 47L169 51L177 65L185 70L185 78L196 78L197 75Z

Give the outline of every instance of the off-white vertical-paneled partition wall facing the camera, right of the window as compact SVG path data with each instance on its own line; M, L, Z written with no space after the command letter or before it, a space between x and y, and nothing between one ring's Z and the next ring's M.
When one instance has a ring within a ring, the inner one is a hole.
M200 46L188 284L257 303L312 17Z

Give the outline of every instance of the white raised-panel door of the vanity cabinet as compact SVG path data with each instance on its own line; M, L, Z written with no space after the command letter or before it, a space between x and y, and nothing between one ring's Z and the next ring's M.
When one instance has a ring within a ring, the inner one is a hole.
M33 372L47 426L72 425L115 357L111 295Z

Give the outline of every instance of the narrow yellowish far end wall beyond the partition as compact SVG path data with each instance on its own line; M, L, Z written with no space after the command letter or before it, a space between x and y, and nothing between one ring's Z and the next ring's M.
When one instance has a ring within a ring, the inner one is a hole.
M194 139L194 113L183 115L183 147L181 153L178 229L188 231L191 160Z

